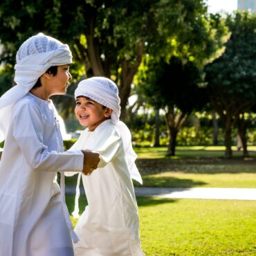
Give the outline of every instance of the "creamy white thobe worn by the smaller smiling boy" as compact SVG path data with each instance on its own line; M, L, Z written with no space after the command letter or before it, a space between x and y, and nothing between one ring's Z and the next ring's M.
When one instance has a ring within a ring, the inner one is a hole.
M144 255L140 246L138 207L122 139L111 120L84 130L72 149L100 154L98 169L82 175L88 204L75 226L76 256ZM68 174L67 174L68 175Z

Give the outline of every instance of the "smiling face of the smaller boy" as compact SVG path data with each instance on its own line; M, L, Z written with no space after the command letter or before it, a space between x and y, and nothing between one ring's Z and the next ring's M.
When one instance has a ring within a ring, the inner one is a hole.
M80 125L88 127L89 131L94 131L104 120L109 119L111 113L111 109L104 108L102 104L90 98L80 96L76 100L75 116Z

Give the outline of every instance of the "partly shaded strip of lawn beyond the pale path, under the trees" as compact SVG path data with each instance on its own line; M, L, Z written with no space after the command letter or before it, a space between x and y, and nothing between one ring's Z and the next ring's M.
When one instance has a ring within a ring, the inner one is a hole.
M145 187L256 188L256 148L248 149L250 158L234 152L234 158L227 160L224 147L177 147L171 158L165 157L166 147L135 148ZM76 179L66 177L66 184L75 185Z

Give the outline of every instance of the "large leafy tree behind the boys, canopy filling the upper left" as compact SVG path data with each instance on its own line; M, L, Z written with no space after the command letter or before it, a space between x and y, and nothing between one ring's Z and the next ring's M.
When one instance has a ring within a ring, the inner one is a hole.
M187 46L179 47L183 51L192 48L195 44L187 35L193 35L196 26L205 22L200 17L206 7L203 0L3 0L0 13L1 61L14 64L21 42L36 32L53 35L71 46L88 77L104 75L118 84L124 119L131 82L143 55L170 54L181 37ZM200 46L196 36L193 40L198 42L197 50L212 47Z

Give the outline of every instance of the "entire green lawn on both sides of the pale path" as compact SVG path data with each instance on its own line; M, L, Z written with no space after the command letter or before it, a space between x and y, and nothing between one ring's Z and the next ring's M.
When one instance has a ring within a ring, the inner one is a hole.
M256 148L250 158L235 152L223 158L223 147L136 148L143 186L256 188ZM69 185L76 177L66 178ZM138 185L138 184L136 184ZM70 212L74 196L66 196ZM143 250L154 255L256 255L256 201L160 199L138 197ZM80 213L86 205L80 197ZM75 225L76 219L73 219Z

